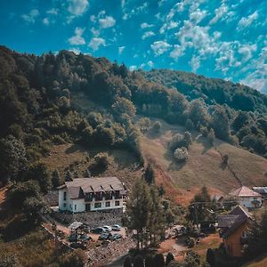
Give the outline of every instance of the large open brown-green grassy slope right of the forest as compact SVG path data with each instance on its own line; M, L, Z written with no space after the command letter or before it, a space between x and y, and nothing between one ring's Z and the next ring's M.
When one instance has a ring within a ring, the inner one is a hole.
M229 167L222 165L221 154L229 155L229 166L244 185L266 185L265 158L218 140L212 146L197 132L192 134L193 143L190 146L188 162L176 163L172 153L167 150L167 143L174 134L183 134L185 129L182 126L168 125L164 121L161 123L159 134L145 134L142 139L142 150L145 157L152 160L160 170L158 183L163 182L172 195L175 193L174 198L177 201L189 200L203 185L214 193L226 193L239 187L239 181ZM170 188L172 183L175 190Z

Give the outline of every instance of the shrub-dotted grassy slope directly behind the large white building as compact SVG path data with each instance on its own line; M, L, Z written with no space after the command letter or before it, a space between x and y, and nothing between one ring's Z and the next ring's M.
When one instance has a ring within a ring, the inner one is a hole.
M90 149L74 144L62 144L54 146L50 155L43 158L43 162L53 171L57 168L64 177L68 169L77 173L79 177L85 176L85 169L93 164L93 157L99 152L109 154L109 166L102 173L92 173L95 176L117 176L127 187L131 187L134 180L142 175L142 169L138 166L137 159L126 150Z

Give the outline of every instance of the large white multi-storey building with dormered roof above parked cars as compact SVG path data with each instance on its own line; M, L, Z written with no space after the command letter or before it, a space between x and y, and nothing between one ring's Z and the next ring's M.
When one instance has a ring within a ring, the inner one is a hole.
M58 190L59 209L72 213L122 208L126 193L117 177L75 178Z

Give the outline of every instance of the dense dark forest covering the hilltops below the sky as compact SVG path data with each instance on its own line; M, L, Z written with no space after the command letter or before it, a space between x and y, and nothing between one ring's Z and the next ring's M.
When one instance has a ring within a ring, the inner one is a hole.
M73 101L78 93L94 108L81 109ZM0 182L45 178L38 160L63 142L131 150L142 164L135 113L203 135L212 130L266 158L266 110L265 95L219 79L167 70L131 72L105 58L69 51L36 56L1 46ZM49 187L38 182L41 190Z

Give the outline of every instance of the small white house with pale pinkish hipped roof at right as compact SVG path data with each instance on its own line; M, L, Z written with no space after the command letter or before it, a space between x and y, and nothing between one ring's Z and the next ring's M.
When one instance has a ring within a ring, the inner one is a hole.
M260 207L263 204L262 196L244 185L237 190L232 190L229 196L235 198L239 202L239 205L247 208Z

